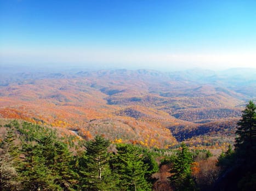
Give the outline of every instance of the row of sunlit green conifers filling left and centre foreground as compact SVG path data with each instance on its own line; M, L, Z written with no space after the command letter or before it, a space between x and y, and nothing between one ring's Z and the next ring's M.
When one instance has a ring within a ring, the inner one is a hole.
M151 175L158 170L146 148L119 144L110 151L111 142L99 135L77 143L83 146L77 151L74 146L73 154L69 141L53 129L17 121L6 129L0 190L151 190Z

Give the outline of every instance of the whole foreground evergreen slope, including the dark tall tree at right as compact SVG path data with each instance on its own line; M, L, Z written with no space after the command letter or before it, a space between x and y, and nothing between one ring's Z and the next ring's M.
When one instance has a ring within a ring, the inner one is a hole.
M1 190L255 190L256 106L237 122L235 150L214 156L187 141L147 148L66 129L1 120ZM218 157L218 159L217 159Z

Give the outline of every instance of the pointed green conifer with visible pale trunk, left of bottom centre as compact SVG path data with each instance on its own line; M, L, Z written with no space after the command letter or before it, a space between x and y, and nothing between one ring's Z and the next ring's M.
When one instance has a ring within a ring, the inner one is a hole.
M110 153L107 152L109 146L110 141L99 135L86 142L86 153L79 160L80 184L83 190L115 189L109 166Z

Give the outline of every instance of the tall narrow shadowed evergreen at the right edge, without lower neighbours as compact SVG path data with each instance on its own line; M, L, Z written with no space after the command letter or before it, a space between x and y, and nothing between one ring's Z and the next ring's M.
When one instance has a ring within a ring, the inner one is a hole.
M242 166L243 174L238 182L241 190L256 189L256 105L249 101L242 111L242 119L237 123L236 154L237 165Z

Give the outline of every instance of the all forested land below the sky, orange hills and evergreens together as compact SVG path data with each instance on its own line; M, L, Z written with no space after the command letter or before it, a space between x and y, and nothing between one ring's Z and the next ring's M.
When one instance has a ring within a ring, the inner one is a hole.
M255 190L245 71L3 68L0 190Z

